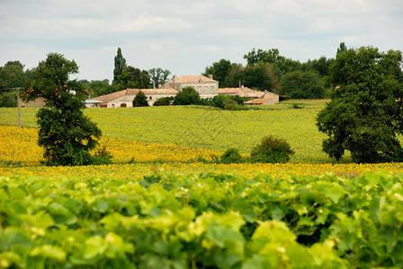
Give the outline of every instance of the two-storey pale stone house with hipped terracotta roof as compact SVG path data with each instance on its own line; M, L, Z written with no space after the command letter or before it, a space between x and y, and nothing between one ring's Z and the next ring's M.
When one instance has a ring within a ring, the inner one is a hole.
M182 91L186 87L193 87L199 92L201 98L212 98L219 94L219 82L212 79L212 74L209 77L204 75L182 75L174 77L169 82L164 84L164 88L175 89Z

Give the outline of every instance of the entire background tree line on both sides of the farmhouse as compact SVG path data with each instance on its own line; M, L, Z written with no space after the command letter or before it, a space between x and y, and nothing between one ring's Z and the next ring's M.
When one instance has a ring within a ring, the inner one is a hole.
M344 50L341 43L337 51ZM332 85L327 80L329 66L335 61L333 58L321 56L306 63L281 56L277 48L268 50L253 48L244 56L246 65L231 63L221 59L205 67L203 75L213 74L219 81L220 88L238 87L240 84L255 90L268 90L291 99L309 99L328 97L325 89ZM9 61L0 67L0 107L16 107L17 87L34 79L38 67L24 70L20 61ZM141 70L127 65L118 48L114 57L113 80L80 80L91 97L121 91L127 88L158 88L170 79L171 72L160 67Z

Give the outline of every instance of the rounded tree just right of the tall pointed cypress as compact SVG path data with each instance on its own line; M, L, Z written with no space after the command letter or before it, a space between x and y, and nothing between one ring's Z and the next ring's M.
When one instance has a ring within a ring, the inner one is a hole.
M148 89L149 88L149 74L146 70L139 70L133 66L128 66L123 73L118 76L119 89Z

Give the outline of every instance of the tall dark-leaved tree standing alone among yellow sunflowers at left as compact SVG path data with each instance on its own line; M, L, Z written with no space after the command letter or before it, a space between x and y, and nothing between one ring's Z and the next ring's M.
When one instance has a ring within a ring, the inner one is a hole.
M76 62L57 53L50 53L41 61L35 80L28 82L21 93L22 100L45 100L45 108L37 113L38 144L49 165L86 165L99 159L91 156L101 137L101 130L83 109L86 93L83 85L68 79L78 73Z

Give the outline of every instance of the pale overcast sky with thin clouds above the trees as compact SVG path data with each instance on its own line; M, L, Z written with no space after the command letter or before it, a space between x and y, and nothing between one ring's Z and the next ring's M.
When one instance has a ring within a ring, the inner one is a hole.
M112 82L127 65L201 74L252 48L306 62L348 48L403 51L403 0L0 0L0 66L37 66L49 53L79 65L78 79Z

